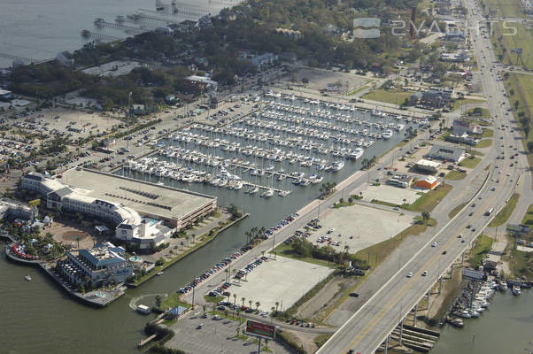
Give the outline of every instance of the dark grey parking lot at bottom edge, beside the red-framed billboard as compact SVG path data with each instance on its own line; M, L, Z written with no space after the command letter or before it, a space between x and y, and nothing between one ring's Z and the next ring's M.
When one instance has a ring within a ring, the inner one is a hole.
M231 318L231 315L229 315ZM204 324L203 327L199 327ZM183 350L187 353L212 354L212 353L257 353L258 344L252 342L255 338L248 340L236 338L237 326L240 323L229 319L212 319L210 315L207 319L202 317L202 309L197 310L197 315L186 317L174 324L171 329L174 337L166 342L166 347ZM243 324L239 330L242 334ZM264 348L264 341L261 347ZM268 342L268 349L274 353L289 353L277 342Z

